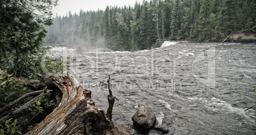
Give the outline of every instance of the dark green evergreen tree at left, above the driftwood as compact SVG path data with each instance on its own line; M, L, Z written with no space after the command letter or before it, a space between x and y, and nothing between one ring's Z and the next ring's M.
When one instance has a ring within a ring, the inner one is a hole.
M29 78L41 70L45 25L52 25L51 10L57 1L1 0L0 5L0 69Z

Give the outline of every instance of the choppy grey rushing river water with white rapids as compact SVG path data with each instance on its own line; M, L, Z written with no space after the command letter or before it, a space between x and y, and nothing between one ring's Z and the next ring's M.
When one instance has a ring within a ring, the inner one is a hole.
M113 94L113 122L134 130L132 115L150 108L157 124L173 134L254 134L256 120L256 45L166 41L139 52L78 53L53 48L75 58L70 66L96 107L108 108L108 75ZM136 134L162 134L159 131Z

